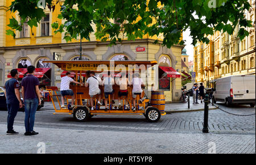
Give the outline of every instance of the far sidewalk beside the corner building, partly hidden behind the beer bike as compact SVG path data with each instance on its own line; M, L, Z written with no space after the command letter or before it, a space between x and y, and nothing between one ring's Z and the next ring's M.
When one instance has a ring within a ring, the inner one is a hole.
M204 102L201 103L200 100L199 104L193 104L192 97L190 98L190 108L188 109L188 103L168 103L166 104L165 112L167 114L170 113L177 113L177 112L193 112L193 111L204 111ZM117 101L116 101L117 102ZM59 104L57 101L55 102L56 108L60 109ZM52 102L45 102L44 107L42 110L54 110ZM209 110L217 109L212 104L209 104Z

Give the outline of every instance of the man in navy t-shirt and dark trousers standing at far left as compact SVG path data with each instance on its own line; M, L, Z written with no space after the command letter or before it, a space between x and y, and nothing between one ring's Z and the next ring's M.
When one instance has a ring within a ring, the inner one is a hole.
M18 70L13 69L11 70L11 79L5 83L5 97L8 109L6 134L18 134L18 132L15 132L13 129L14 119L18 110L23 107L22 100L20 99L18 78Z

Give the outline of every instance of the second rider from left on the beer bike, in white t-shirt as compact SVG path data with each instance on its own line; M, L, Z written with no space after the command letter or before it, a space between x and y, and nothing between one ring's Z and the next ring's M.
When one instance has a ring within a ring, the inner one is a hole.
M94 71L90 71L90 77L87 79L85 87L89 86L89 95L90 95L90 105L92 105L91 110L94 110L93 108L93 98L98 96L98 105L101 105L101 90L98 87L102 84L101 78L96 77Z

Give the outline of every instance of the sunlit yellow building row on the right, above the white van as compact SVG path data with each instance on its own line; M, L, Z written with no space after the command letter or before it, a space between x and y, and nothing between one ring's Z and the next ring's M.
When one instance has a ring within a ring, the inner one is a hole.
M237 26L233 35L216 31L214 35L208 36L209 44L197 42L193 52L196 82L204 82L207 87L213 87L217 78L255 75L255 1L249 2L253 6L245 14L247 20L253 22L253 27L246 28L249 36L240 41Z

